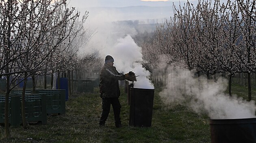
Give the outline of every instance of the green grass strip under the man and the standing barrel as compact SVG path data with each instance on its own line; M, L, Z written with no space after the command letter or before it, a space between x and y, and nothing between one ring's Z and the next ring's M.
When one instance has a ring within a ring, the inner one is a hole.
M98 88L95 88L95 93L69 97L69 101L66 102L66 114L48 116L47 124L29 125L28 129L11 126L9 139L3 138L4 127L0 127L0 142L210 143L208 116L195 114L178 104L165 106L158 95L161 88L155 89L151 127L129 126L130 108L123 88L119 101L124 126L115 128L111 108L106 126L100 127L98 123L101 98L97 90ZM235 86L232 91L239 96L247 94L244 86Z

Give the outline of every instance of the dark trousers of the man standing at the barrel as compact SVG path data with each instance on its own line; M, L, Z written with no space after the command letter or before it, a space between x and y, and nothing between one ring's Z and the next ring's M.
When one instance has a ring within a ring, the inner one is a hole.
M113 107L115 116L115 125L121 124L120 111L121 105L118 98L102 98L102 114L100 117L100 125L105 124L110 111L110 105Z

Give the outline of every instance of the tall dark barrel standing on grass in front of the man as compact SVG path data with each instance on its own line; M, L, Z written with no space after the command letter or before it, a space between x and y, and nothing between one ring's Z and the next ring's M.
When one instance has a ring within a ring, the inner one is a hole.
M153 101L154 89L130 88L130 126L151 126Z

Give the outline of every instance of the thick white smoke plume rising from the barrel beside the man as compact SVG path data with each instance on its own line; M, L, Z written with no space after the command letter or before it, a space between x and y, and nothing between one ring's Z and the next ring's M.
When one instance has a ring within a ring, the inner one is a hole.
M95 3L97 4L97 3ZM154 88L148 79L150 72L142 66L141 47L137 46L132 37L138 34L132 21L119 21L126 18L125 13L120 13L118 8L92 8L88 17L87 26L94 29L95 33L81 53L88 53L91 49L98 50L102 58L102 65L106 55L114 58L114 66L117 71L124 74L129 71L135 72L136 88Z

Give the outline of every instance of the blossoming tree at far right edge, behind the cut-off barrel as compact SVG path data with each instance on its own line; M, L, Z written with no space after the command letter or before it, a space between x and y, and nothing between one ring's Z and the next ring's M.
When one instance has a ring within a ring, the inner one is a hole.
M238 57L244 66L243 72L247 73L248 100L250 101L252 99L251 73L256 72L256 1L236 0L234 6L238 7L236 16L241 16L241 19L236 19L236 22L239 23L239 32L241 32L242 37Z

